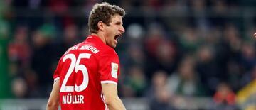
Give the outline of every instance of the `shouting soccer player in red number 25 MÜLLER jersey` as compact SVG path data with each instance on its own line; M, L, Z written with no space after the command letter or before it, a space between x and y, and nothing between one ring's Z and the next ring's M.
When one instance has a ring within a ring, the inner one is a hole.
M95 4L85 41L69 48L53 74L47 109L124 110L117 95L119 57L114 51L124 33L124 9L106 2Z

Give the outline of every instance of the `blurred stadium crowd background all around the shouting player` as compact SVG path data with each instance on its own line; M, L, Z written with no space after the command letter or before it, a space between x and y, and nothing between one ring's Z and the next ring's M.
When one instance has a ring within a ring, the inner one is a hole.
M0 0L0 109L43 110L53 71L101 0ZM107 1L130 110L256 110L255 0Z

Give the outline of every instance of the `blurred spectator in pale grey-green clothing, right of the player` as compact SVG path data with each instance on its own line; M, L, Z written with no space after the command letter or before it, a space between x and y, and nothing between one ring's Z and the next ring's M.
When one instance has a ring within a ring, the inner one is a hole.
M171 94L177 97L203 97L206 89L196 72L196 62L193 56L183 57L176 72L168 79L168 87Z

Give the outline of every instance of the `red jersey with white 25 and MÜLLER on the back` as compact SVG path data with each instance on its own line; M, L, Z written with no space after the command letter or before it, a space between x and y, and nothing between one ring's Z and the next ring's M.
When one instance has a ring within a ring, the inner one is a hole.
M117 84L119 68L117 53L95 35L69 48L53 75L60 79L61 109L107 109L101 83Z

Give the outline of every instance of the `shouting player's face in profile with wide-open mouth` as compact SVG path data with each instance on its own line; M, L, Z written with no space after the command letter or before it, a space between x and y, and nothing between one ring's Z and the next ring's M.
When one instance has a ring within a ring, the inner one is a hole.
M125 31L122 24L122 16L116 14L112 16L110 26L106 25L106 44L112 48L115 48L117 46L118 38Z

